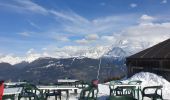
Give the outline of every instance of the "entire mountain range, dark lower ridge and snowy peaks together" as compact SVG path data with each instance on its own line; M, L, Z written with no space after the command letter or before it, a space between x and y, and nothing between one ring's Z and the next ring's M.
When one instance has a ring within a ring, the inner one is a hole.
M117 45L79 51L76 56L69 57L39 57L36 54L24 58L1 56L0 79L49 83L67 77L90 81L96 79L101 66L99 79L106 81L126 76L125 57L143 49L143 45L132 46L120 41Z

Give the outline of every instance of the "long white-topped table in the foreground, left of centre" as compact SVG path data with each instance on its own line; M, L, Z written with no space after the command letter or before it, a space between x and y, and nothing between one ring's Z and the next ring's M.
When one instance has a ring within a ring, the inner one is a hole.
M74 90L74 91L76 91L76 93L77 93L77 90L79 89L79 88L76 88L76 87L72 87L72 86L41 86L41 85L39 85L39 86L37 86L37 88L38 89L40 89L40 90L50 90L50 91L52 91L52 90L58 90L58 91L65 91L66 92L66 94L67 94L67 99L69 98L69 91L70 90Z

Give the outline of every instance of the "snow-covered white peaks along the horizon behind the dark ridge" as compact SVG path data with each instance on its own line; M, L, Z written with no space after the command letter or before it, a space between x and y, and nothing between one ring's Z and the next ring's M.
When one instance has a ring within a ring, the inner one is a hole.
M116 41L111 46L96 46L96 47L64 47L57 49L56 52L44 52L42 54L35 52L28 52L25 56L19 57L15 55L0 55L0 63L7 62L12 65L25 62L32 62L40 57L52 58L92 58L98 59L100 57L120 57L132 55L143 49L150 47L148 42L134 42L127 40Z

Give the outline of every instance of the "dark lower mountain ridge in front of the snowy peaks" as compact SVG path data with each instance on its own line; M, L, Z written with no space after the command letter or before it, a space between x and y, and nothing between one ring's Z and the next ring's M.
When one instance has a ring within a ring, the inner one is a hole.
M31 82L55 82L56 79L69 77L72 79L90 81L97 77L99 68L99 59L91 58L38 58L31 63L20 63L10 65L0 63L0 79L4 80L28 80ZM113 62L114 59L108 60L102 58L100 63L101 81L108 80L112 77L125 76L124 70L117 67L119 61ZM6 74L8 73L8 75Z

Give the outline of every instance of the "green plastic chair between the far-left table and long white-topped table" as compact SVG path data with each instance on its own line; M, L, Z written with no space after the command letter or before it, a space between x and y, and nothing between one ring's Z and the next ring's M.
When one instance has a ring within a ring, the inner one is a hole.
M21 98L29 98L29 100L45 100L44 94L33 84L25 84L22 92L18 96L18 100Z

